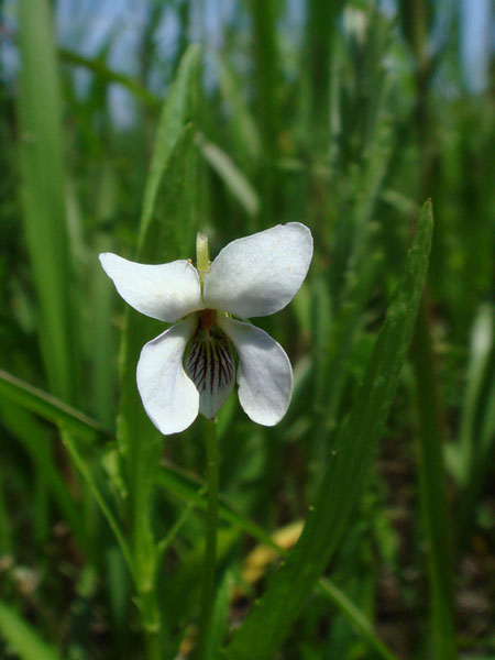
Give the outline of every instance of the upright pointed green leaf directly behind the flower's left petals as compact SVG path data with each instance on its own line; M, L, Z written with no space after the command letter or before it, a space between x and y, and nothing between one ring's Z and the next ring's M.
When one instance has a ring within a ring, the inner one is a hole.
M163 107L144 193L138 262L164 263L187 257L193 248L196 150L190 120L195 112L198 65L199 51L197 46L190 46ZM144 343L163 330L163 324L127 307L118 440L127 468L139 605L143 625L150 630L160 626L154 593L156 547L151 509L162 437L144 413L135 385L135 369Z

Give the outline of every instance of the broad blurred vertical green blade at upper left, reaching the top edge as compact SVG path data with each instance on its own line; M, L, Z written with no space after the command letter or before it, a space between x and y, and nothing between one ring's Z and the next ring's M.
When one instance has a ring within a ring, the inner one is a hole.
M74 268L65 205L61 94L47 0L19 3L21 55L18 113L23 224L37 333L54 393L74 403L78 365L70 287Z

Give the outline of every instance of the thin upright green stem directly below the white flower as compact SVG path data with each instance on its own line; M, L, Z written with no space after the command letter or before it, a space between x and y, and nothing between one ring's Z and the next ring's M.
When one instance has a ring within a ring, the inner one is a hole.
M208 509L205 549L205 572L202 576L201 618L199 622L199 658L206 657L208 629L211 620L215 596L215 569L217 556L218 525L218 439L217 422L207 422L207 460L208 460Z

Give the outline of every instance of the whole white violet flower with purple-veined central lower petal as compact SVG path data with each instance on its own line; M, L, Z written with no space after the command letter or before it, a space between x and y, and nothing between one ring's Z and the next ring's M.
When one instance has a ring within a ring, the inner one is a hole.
M144 345L138 363L143 406L162 433L183 431L198 411L215 417L234 385L230 342L239 355L237 380L244 411L265 426L284 417L293 389L284 349L260 328L233 317L263 317L283 309L302 284L311 256L311 232L299 222L232 241L211 265L204 255L200 270L185 260L145 265L100 254L107 275L129 305L174 323Z

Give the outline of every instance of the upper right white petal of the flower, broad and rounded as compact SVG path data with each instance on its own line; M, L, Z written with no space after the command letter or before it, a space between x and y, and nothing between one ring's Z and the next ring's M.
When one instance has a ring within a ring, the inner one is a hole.
M311 256L311 232L300 222L232 241L205 276L205 306L242 318L274 314L297 294Z

